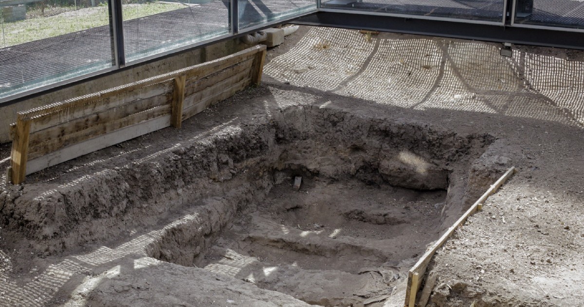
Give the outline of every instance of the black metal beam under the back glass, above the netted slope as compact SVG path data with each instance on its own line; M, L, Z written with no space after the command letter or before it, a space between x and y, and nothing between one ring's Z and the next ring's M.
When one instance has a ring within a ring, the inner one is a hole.
M472 21L465 23L460 20L451 22L322 11L298 18L293 23L584 50L584 32L569 32L568 29L533 29L484 25Z

